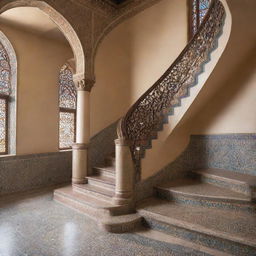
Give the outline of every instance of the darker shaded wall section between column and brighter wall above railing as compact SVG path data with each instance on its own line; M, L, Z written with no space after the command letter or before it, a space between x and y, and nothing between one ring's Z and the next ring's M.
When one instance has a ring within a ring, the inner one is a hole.
M131 101L131 52L127 26L115 28L100 45L95 59L96 85L91 92L91 135L118 120Z

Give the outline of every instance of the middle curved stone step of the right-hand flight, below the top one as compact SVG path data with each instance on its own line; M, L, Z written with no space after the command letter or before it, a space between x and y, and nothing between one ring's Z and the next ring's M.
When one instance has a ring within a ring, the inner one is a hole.
M255 212L248 196L192 178L168 181L156 187L156 194L181 204Z

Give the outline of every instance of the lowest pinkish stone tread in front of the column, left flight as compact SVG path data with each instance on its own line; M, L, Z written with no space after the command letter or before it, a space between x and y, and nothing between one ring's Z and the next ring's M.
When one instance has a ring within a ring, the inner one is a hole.
M80 203L83 203L98 209L105 209L105 208L109 209L109 208L116 207L115 205L105 200L101 200L87 194L76 192L72 189L72 186L66 186L60 189L56 189L54 191L54 194L61 194L74 201L78 201Z

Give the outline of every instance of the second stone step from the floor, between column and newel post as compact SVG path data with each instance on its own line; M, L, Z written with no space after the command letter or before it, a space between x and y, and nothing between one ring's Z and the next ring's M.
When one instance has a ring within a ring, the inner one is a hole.
M93 186L90 184L77 184L73 185L73 190L82 194L91 195L95 198L100 198L111 202L112 197L115 195L114 190L104 189L98 186Z

